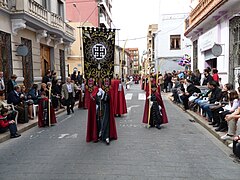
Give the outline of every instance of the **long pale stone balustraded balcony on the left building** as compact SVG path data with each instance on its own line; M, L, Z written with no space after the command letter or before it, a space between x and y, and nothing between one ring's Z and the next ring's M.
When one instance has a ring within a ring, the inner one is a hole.
M0 8L11 14L12 22L15 23L13 27L27 25L36 30L44 30L55 38L63 38L66 42L75 40L73 27L64 22L61 16L49 12L34 0L0 0ZM16 32L13 28L13 33Z

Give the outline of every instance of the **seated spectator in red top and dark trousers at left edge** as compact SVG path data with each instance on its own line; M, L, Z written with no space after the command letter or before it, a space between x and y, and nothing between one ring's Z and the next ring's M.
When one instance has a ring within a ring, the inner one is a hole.
M17 126L14 119L13 114L9 114L8 109L2 108L0 111L0 133L6 132L8 129L10 130L10 137L17 138L21 135L17 132Z

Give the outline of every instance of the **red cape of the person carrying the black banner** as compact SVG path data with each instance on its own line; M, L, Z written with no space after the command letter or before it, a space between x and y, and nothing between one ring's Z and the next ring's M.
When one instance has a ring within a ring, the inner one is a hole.
M95 87L92 92L92 97L96 97L98 92L98 87ZM115 118L114 118L114 109L113 107L113 94L112 91L109 91L110 96L110 140L117 139L117 129L115 124ZM86 141L90 142L97 142L98 141L98 128L97 128L97 121L96 121L96 102L92 98L90 98L89 108L88 108L88 122L87 122L87 136Z

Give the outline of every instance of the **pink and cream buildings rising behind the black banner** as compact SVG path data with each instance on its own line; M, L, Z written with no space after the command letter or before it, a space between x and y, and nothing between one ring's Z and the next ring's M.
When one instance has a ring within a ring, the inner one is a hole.
M76 41L71 45L68 56L68 68L84 72L84 54L81 27L111 28L112 0L66 0L67 19L75 28Z

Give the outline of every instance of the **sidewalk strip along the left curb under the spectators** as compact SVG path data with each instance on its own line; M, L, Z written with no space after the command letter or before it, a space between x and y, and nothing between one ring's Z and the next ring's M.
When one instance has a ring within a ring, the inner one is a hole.
M75 103L74 107L76 107L76 106L78 106L78 101ZM59 109L58 111L55 111L55 114L57 116L58 114L61 114L65 111L67 112L66 108L65 109ZM34 118L34 120L29 120L28 123L17 124L18 132L23 133L24 131L27 131L27 130L29 130L29 129L37 126L37 125L38 125L38 116L36 116ZM8 139L10 139L10 132L9 131L0 134L0 143L2 143L4 141L7 141Z

